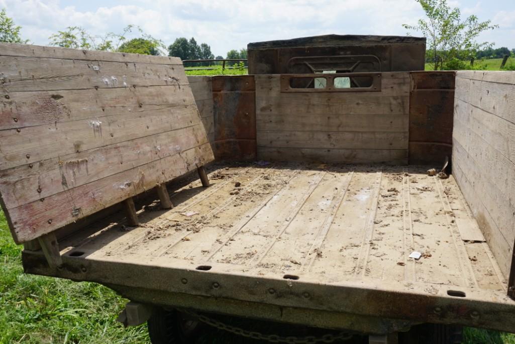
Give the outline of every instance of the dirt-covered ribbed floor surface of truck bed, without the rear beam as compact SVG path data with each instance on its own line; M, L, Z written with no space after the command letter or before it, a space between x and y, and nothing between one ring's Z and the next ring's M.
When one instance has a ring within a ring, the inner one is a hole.
M418 282L413 288L429 293L435 285L506 290L455 180L428 168L214 165L209 188L194 180L170 194L173 209L152 204L140 226L98 227L63 240L61 252L320 283Z

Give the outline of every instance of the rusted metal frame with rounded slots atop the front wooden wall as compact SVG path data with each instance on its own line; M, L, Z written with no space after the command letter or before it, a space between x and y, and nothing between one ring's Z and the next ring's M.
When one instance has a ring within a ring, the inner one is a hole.
M335 79L349 78L351 87L335 87ZM362 87L356 79L370 79L370 85ZM315 79L325 79L324 87L315 88ZM311 82L308 82L311 80ZM292 82L293 81L293 82ZM292 83L299 83L298 87L291 87ZM381 92L381 73L336 73L336 74L283 74L281 75L281 93L299 92ZM354 87L352 87L352 85Z

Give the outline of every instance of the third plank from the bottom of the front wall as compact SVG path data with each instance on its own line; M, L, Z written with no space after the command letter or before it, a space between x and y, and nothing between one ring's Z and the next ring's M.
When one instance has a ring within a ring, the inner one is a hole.
M340 110L341 112L341 110ZM292 117L295 117L291 119ZM334 115L312 115L310 113L298 113L297 116L287 116L276 112L260 112L256 118L256 129L262 131L275 130L335 130L345 131L382 131L382 132L407 132L409 117L404 113L384 114L364 113ZM259 137L259 135L258 135Z

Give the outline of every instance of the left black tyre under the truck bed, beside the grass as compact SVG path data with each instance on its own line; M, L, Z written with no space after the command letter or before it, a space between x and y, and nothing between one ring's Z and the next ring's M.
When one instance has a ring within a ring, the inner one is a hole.
M202 334L204 324L177 311L158 308L147 321L152 344L194 343Z

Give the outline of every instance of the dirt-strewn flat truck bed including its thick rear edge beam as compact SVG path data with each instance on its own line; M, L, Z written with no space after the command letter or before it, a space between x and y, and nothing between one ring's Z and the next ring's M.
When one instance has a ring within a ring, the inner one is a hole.
M59 276L104 283L147 303L160 303L160 292L180 293L168 298L173 305L204 311L210 302L195 297L227 298L240 308L260 301L444 321L457 316L446 304L461 302L482 315L466 315L465 322L489 322L513 307L506 281L453 177L430 177L426 169L214 165L209 188L198 180L171 183L175 208L145 207L138 227L108 218L90 226L89 235L61 240ZM409 257L413 251L420 259ZM27 251L24 259L29 272L53 274L41 253ZM376 302L384 291L397 299L386 309ZM188 297L194 299L184 304ZM218 301L216 311L234 314L231 307L238 308ZM245 312L260 314L260 307ZM349 325L338 317L319 322ZM406 324L370 322L352 326L380 332Z

